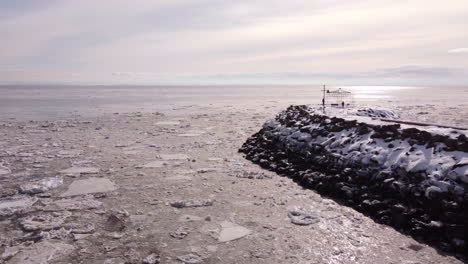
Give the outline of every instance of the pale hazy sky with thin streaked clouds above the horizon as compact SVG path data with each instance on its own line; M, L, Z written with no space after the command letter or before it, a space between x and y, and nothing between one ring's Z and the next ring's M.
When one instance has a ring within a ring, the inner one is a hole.
M2 0L0 84L468 86L467 0Z

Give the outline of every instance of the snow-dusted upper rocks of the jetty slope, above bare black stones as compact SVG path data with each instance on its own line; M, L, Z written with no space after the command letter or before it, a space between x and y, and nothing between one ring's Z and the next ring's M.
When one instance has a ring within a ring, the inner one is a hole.
M387 118L398 116L390 110L366 109L367 113L379 113ZM437 180L456 185L468 176L468 142L446 137L453 129L439 129L445 132L440 134L429 133L400 124L381 122L379 125L375 121L367 124L362 118L357 122L349 115L341 119L322 115L314 109L305 110L312 120L297 117L298 122L289 125L291 116L287 115L291 113L283 112L267 121L264 129L292 147L304 150L317 145L348 162L422 173L427 185ZM463 135L464 132L459 133Z

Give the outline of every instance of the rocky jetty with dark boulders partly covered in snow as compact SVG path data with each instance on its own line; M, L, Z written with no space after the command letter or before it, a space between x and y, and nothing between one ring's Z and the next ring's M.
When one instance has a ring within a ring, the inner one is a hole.
M417 127L385 109L290 106L240 149L260 166L377 222L467 255L467 131Z

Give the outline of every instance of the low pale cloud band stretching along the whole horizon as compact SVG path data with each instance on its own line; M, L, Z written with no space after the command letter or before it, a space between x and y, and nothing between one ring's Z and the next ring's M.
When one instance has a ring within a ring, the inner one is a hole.
M29 76L30 82L26 81ZM55 80L55 82L44 81ZM82 74L66 71L0 69L3 83L66 83L66 84L126 84L126 85L457 85L466 83L466 71L459 68L431 65L402 65L371 71L284 71L231 73L100 72L99 81L89 81ZM104 78L103 78L104 76ZM32 79L31 79L32 78ZM105 81L102 81L102 78ZM18 82L16 82L18 83Z

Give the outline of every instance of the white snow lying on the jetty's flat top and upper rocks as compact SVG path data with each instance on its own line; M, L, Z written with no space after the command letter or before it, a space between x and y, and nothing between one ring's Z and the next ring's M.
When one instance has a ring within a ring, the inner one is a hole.
M323 114L314 109L310 111L312 115ZM369 112L385 113L389 116L393 115L392 112L384 112L382 109ZM346 110L334 110L333 114L347 120L357 120L360 123L372 125L391 124L375 118L352 116ZM317 144L323 146L329 153L334 152L345 160L352 160L361 164L374 164L389 170L402 168L407 172L425 172L427 174L427 180L423 183L425 186L440 185L441 182L447 181L451 181L451 185L456 186L457 180L468 183L468 153L445 151L443 149L446 146L441 142L436 143L435 147L418 144L411 145L406 139L385 142L380 138L371 138L372 133L374 133L373 131L359 135L355 128L344 129L340 132L330 132L327 137L317 136L312 138L309 134L301 133L297 128L282 126L276 120L267 121L264 127L272 129L272 133L279 137L281 141L287 142L292 146L303 145L304 142L308 146ZM312 124L308 127L320 129L320 124ZM400 130L410 127L414 128L414 126L401 125ZM434 127L417 127L417 129L427 131L432 135L441 134L444 136L453 134L454 130L451 128ZM458 130L458 134L461 133L464 132ZM444 190L446 188L441 189Z

